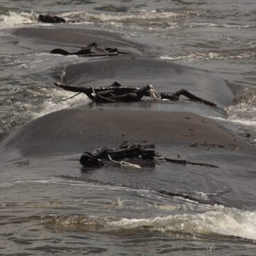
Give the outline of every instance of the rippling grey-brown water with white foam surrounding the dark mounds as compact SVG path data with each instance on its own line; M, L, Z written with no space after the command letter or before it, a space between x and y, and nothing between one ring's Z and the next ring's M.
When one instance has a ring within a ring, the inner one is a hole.
M4 29L38 26L38 15L46 13L80 21L73 26L122 33L146 42L152 48L151 57L212 71L240 84L244 90L239 98L225 109L226 116L214 120L249 133L255 145L254 0L2 0L0 139L39 116L84 100L78 95L60 102L70 93L53 86L53 73L80 62L79 57L13 51L15 39ZM40 179L39 171L44 170L37 170L35 179L26 163L20 165L22 178L15 173L0 179L0 255L256 254L253 210L170 199L147 189L89 184L63 176ZM38 188L38 194L31 196L33 188ZM196 193L208 199L200 189Z

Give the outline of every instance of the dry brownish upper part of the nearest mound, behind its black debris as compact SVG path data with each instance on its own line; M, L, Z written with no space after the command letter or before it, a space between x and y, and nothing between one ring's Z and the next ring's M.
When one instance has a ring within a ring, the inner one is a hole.
M78 153L100 145L114 146L123 140L132 143L147 140L170 150L198 143L190 151L203 148L205 152L210 145L223 152L227 149L240 152L251 147L216 122L194 113L83 109L66 109L38 118L3 144L12 149L17 147L24 156L40 156ZM62 147L65 141L66 147Z

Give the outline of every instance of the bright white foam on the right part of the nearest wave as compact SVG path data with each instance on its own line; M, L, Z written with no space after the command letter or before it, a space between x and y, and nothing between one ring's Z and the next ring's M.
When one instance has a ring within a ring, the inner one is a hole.
M210 233L256 240L256 212L214 205L201 214L176 214L149 219L111 221L115 228L149 228L159 232L183 232L192 235Z

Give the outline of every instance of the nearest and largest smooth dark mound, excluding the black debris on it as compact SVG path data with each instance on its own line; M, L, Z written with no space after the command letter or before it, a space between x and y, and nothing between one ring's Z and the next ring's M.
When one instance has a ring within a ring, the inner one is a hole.
M154 143L163 156L218 168L140 160L136 163L143 170L123 170L115 163L87 170L80 165L82 152L116 147L125 140ZM83 179L93 183L149 188L200 203L256 207L255 181L247 179L255 166L255 149L194 113L66 109L17 129L0 148L6 170L19 170L25 164L35 172L44 170L45 176L73 176L82 171ZM194 191L198 188L212 194L210 199L197 199Z

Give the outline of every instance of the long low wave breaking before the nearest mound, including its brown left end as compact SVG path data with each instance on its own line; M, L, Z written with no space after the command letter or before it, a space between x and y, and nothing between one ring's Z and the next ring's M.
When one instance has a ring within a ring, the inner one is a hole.
M199 214L174 214L146 219L55 215L48 222L52 228L65 230L97 229L100 232L108 230L113 234L120 234L120 229L137 230L136 232L150 230L163 234L190 234L199 237L223 235L256 240L256 212L225 208L222 205L214 205L210 211Z

